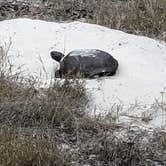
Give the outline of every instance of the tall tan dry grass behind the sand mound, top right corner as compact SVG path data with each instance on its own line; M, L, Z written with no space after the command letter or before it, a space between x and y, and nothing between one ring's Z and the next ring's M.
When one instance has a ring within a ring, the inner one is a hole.
M98 6L99 9L94 14L94 23L166 40L165 0L101 0Z

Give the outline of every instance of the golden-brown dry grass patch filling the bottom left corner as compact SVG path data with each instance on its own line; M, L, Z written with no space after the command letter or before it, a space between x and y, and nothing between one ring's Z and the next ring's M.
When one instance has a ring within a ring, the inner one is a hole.
M1 129L1 166L66 166L62 156L48 139L36 139L12 128Z

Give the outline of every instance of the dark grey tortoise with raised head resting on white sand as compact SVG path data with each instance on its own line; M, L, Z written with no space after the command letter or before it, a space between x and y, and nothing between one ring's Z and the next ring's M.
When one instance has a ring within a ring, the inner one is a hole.
M61 52L51 51L50 55L60 63L60 69L55 72L57 78L112 76L118 68L118 61L99 49L74 50L66 56Z

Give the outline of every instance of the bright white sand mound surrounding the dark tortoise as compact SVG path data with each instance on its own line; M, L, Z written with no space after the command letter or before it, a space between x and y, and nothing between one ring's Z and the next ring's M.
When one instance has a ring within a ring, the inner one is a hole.
M1 21L0 44L9 39L15 68L22 66L25 76L33 75L43 82L49 81L58 67L50 58L51 50L67 54L74 49L95 48L112 54L119 61L117 74L87 80L92 103L99 112L109 111L114 103L150 104L155 98L160 100L166 87L164 42L93 24L31 19Z

